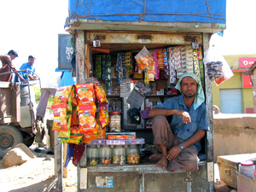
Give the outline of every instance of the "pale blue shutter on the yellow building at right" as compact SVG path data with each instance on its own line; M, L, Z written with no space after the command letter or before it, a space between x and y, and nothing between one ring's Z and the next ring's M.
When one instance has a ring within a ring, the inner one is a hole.
M242 113L241 89L219 90L220 113Z

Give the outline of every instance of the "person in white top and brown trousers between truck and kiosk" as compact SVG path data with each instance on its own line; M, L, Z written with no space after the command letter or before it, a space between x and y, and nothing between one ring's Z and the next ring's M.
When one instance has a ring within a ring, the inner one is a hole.
M47 80L43 80L41 84L41 96L38 103L37 108L37 119L41 119L44 121L44 115L47 108L47 103L49 96L55 96L55 92L58 88L58 84L61 81L61 71L58 70L58 68L55 68L55 73L52 75L49 75L49 78Z

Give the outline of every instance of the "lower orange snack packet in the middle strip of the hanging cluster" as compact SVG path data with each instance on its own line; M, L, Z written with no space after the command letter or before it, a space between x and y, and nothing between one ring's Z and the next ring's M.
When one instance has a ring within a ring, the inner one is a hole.
M78 107L79 133L96 133L96 105Z

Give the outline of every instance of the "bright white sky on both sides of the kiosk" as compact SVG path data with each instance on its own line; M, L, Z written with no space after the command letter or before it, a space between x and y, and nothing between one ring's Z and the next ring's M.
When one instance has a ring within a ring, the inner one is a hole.
M227 27L218 40L223 55L256 54L255 7L252 0L227 0ZM64 31L68 0L0 2L0 54L15 49L17 68L35 55L36 73L47 77L58 65L58 34Z

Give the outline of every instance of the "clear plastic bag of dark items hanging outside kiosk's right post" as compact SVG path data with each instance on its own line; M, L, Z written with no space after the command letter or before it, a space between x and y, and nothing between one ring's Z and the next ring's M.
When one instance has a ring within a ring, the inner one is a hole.
M210 46L205 55L203 61L207 67L207 76L210 81L215 81L218 85L234 76L224 56L220 55L214 46Z

